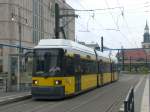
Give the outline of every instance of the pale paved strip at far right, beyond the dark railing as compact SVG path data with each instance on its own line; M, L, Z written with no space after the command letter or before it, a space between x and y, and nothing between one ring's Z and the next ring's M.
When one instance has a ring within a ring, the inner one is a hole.
M141 112L150 112L149 110L149 78L147 77L144 93L142 97Z

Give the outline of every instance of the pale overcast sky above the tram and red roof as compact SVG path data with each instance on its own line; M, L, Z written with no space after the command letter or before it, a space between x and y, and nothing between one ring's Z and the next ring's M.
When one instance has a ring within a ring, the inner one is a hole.
M76 38L98 42L111 48L139 48L143 41L146 20L150 26L150 0L66 0L77 11ZM117 8L120 7L120 8ZM108 8L114 8L108 10Z

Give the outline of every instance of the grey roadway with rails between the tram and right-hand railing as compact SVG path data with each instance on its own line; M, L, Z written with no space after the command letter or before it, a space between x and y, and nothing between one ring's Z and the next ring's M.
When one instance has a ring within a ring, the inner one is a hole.
M134 77L127 82L118 81L62 101L34 101L29 99L2 106L0 110L3 112L82 112L88 108L88 112L90 112L90 106L91 109L95 107L98 109L102 108L101 110L94 110L94 112L113 112L112 110L116 108L116 105L120 105L123 96L126 96L127 89L131 85L135 86L139 81L139 79L131 81L132 79ZM122 89L120 90L119 88ZM119 92L120 94L118 94Z

